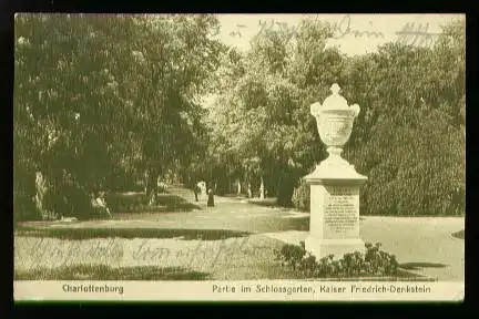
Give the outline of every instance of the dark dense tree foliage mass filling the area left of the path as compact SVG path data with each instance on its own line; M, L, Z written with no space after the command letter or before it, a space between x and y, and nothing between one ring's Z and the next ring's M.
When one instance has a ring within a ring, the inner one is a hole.
M38 215L37 172L38 213L55 218L139 177L153 195L159 176L188 165L202 146L197 96L223 48L215 28L212 16L18 16L16 217ZM82 198L64 192L68 181Z

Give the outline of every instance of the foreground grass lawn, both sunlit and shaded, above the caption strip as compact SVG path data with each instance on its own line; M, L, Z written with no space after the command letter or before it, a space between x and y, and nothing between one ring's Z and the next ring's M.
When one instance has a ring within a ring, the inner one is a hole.
M129 230L121 231L128 234ZM92 237L92 233L72 233L77 234L75 239L65 239L55 231L38 233L37 237L19 236L17 233L16 280L308 279L302 272L275 261L275 249L279 250L284 243L263 235L242 234L241 237L223 237L221 240L213 237L211 240L181 240L167 233L163 233L161 238L110 239ZM406 269L395 278L349 278L374 281L411 279L430 280Z

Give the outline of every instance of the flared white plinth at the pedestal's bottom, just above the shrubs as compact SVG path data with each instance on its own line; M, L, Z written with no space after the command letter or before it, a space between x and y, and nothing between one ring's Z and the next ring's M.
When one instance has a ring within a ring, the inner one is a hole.
M334 259L340 259L345 254L366 251L365 243L357 239L322 239L308 236L305 240L306 251L316 257L317 260L334 255Z

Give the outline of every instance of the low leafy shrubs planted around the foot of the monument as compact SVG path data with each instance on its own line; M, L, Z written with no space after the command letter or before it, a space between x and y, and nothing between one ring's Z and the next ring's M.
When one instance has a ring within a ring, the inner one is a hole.
M366 244L366 253L355 251L345 254L343 258L335 259L329 255L319 260L305 249L304 241L300 246L284 245L276 250L276 260L282 265L300 271L305 277L359 277L359 276L396 276L398 261L394 255L379 249L380 244Z

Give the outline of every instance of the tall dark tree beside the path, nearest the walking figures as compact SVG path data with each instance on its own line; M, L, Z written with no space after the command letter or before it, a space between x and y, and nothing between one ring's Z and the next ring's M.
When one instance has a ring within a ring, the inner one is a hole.
M136 22L137 37L130 47L136 63L123 81L139 116L132 133L142 141L150 196L156 193L160 176L188 166L202 153L200 142L206 132L200 96L217 68L222 45L212 40L217 28L212 16L146 17Z

